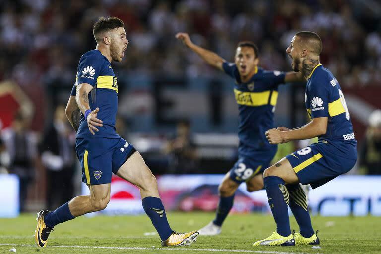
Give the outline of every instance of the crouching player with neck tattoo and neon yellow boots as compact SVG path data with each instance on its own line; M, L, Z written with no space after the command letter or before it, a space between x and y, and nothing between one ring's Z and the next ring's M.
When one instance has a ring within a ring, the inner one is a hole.
M318 137L318 143L287 155L264 171L276 232L254 246L320 244L299 183L317 188L348 172L357 160L357 141L344 95L337 79L320 64L321 50L321 39L313 32L296 33L287 48L293 70L300 71L307 80L305 104L311 121L296 129L272 128L266 131L266 136L271 144L314 137ZM300 233L291 234L287 205Z

